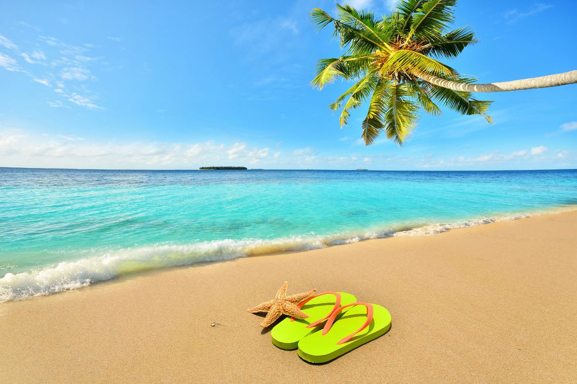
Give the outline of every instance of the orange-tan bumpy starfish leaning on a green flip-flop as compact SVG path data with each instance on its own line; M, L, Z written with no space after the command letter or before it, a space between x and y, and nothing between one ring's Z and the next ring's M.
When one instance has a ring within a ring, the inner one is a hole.
M264 318L264 321L260 325L263 328L271 325L282 314L293 316L298 319L309 317L308 314L298 309L297 304L314 295L314 292L317 290L310 290L302 294L296 294L287 297L287 287L288 283L284 282L283 286L280 287L280 290L276 292L274 299L249 309L250 313L268 312L267 317Z

